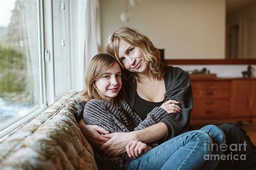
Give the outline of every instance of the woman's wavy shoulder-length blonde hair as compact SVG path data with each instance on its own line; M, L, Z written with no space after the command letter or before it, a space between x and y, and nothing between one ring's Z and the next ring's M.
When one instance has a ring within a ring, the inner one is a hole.
M154 47L153 43L137 31L129 27L120 27L117 31L113 32L106 43L106 53L116 57L119 64L124 68L122 62L119 60L118 43L122 39L129 44L139 47L145 60L148 62L151 75L154 79L161 80L165 75L164 63L161 61L159 50ZM137 74L133 74L136 79Z

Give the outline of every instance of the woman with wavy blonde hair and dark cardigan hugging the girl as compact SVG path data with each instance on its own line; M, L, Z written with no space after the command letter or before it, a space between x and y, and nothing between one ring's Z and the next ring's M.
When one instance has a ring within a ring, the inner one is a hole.
M83 121L79 121L85 137L92 145L116 156L125 152L124 147L131 140L137 139L144 143L165 141L188 130L193 97L190 79L186 72L180 68L164 66L152 42L146 36L126 27L111 34L106 44L106 52L115 56L123 68L130 73L131 77L128 77L130 79L124 83L124 87L132 109L140 118L144 119L153 107L169 99L178 101L181 111L167 116L146 129L129 133L108 134L98 126L85 125ZM239 162L237 166L256 166L256 149L246 133L231 124L219 127L225 132L228 144L240 144L243 141L247 143L246 151L238 154L245 153L251 161Z

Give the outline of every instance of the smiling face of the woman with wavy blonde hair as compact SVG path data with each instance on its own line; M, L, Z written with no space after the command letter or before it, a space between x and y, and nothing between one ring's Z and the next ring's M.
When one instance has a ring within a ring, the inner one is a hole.
M124 65L124 68L130 72L144 73L146 71L147 61L139 47L133 46L120 39L118 42L118 55L119 60Z

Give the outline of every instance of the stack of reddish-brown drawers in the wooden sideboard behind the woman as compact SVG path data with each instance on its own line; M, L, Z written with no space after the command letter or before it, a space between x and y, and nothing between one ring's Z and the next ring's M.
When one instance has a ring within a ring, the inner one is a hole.
M191 119L230 115L231 81L192 81L191 86L194 99Z

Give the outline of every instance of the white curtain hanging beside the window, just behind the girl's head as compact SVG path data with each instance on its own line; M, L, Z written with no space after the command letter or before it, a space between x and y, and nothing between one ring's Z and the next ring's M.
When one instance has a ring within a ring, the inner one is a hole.
M73 89L79 91L84 88L86 68L91 58L99 52L99 1L72 1L71 18L72 81Z

